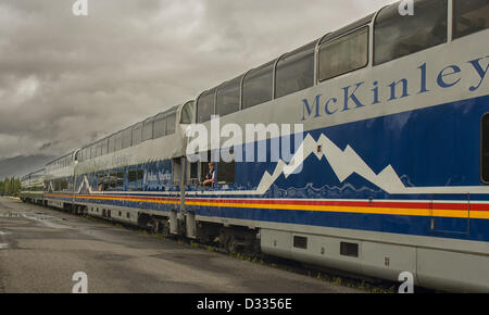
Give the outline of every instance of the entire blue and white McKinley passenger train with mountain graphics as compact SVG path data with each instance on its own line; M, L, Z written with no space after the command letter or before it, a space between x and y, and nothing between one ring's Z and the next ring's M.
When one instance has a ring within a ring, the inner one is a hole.
M401 4L73 150L46 164L41 197L39 172L24 177L22 199L229 252L488 292L489 1ZM301 128L189 150L189 129L216 117ZM277 142L298 146L274 160ZM264 161L237 159L260 148Z

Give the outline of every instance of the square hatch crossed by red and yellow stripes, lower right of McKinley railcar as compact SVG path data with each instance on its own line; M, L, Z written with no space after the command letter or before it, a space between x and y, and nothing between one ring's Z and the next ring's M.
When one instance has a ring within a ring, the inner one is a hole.
M431 199L430 231L434 235L468 236L471 226L469 194L436 194Z

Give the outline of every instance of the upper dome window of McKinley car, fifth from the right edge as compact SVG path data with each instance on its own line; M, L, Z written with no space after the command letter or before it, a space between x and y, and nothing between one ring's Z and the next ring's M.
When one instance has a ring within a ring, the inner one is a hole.
M271 61L247 74L242 86L243 109L272 100L274 64Z

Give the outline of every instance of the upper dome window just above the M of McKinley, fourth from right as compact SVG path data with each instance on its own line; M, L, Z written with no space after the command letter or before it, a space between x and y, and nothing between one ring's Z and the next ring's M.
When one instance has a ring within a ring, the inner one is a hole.
M316 41L284 55L277 63L275 97L280 98L310 88L314 84Z

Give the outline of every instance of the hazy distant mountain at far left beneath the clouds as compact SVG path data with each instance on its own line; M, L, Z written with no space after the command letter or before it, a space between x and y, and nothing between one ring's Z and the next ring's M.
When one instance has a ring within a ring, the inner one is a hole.
M50 155L20 155L9 159L0 159L0 180L5 177L22 177L32 172L39 171L45 167L46 163L54 160Z

